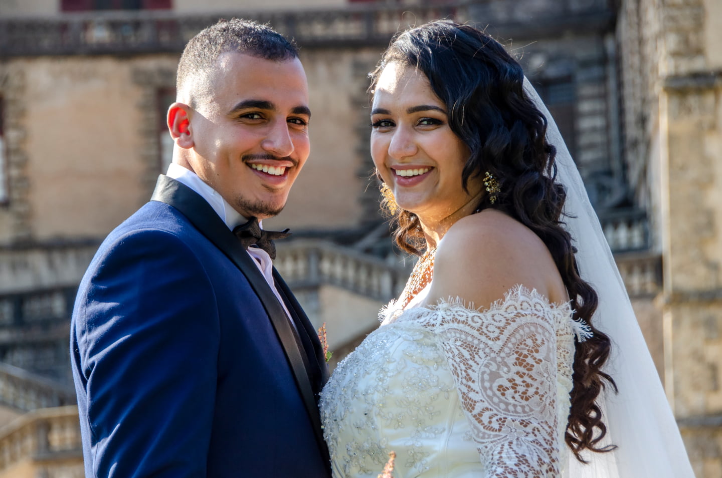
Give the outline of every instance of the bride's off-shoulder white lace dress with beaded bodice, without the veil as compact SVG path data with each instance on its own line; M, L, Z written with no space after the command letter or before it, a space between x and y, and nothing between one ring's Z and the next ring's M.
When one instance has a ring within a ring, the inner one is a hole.
M335 477L558 477L574 334L568 304L516 287L488 310L394 307L321 395Z

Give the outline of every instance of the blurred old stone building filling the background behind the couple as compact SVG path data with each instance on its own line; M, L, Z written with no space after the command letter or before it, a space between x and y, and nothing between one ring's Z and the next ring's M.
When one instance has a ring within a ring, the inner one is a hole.
M183 45L232 16L302 48L311 157L266 225L334 363L413 262L370 181L367 72L408 25L486 26L578 163L697 477L722 476L721 1L0 0L0 478L82 476L75 290L170 162Z

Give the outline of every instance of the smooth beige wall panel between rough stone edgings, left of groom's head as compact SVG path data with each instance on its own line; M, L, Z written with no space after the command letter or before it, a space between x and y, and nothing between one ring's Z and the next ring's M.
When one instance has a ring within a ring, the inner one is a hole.
M26 78L33 238L107 234L144 192L140 87L131 81L130 62L79 57L18 63Z

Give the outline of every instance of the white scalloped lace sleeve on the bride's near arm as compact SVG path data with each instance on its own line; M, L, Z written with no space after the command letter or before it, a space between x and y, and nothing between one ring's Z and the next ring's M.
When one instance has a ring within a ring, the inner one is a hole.
M433 316L484 478L558 477L554 307L518 287L483 313L448 302Z

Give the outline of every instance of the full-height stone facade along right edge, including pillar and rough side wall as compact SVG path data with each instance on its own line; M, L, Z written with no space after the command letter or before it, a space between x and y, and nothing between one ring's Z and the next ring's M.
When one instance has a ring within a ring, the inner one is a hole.
M697 477L722 476L722 3L627 0L628 179L663 260L664 383Z

